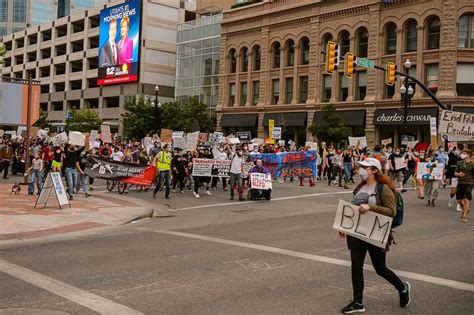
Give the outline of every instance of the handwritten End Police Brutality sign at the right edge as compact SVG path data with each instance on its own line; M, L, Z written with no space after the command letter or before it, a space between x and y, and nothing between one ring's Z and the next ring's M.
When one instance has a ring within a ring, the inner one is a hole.
M474 140L474 114L441 111L438 133L440 135L462 136Z

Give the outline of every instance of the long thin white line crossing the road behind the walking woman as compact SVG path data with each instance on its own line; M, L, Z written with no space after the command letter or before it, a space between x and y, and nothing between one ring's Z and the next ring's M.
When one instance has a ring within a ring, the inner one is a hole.
M252 243L244 243L244 242L238 242L238 241L232 241L232 240L227 240L227 239L222 239L222 238L216 238L216 237L210 237L210 236L204 236L204 235L198 235L198 234L191 234L191 233L184 233L184 232L177 232L177 231L167 231L167 230L153 230L149 228L140 228L140 230L146 230L150 232L155 232L155 233L160 233L160 234L167 234L167 235L174 235L174 236L181 236L181 237L187 237L187 238L192 238L192 239L197 239L197 240L202 240L206 242L213 242L213 243L219 243L219 244L225 244L225 245L231 245L231 246L238 246L238 247L243 247L243 248L250 248L250 249L256 249L256 250L261 250L269 253L275 253L275 254L281 254L281 255L286 255L286 256L292 256L292 257L297 257L297 258L302 258L302 259L307 259L307 260L312 260L312 261L317 261L317 262L323 262L323 263L328 263L328 264L333 264L333 265L338 265L338 266L345 266L345 267L350 267L351 262L343 259L337 259L337 258L331 258L331 257L325 257L325 256L320 256L320 255L313 255L313 254L308 254L308 253L302 253L302 252L296 252L292 250L287 250L287 249L282 249L282 248L277 248L277 247L272 247L272 246L265 246L265 245L258 245L258 244L252 244ZM369 265L364 265L364 269L368 271L375 272L374 268ZM463 290L463 291L468 291L468 292L474 292L474 284L470 283L464 283L464 282L459 282L455 280L449 280L449 279L444 279L444 278L438 278L438 277L433 277L433 276L428 276L428 275L423 275L415 272L409 272L409 271L403 271L403 270L396 270L392 269L397 275L412 279L412 280L418 280L426 283L431 283L431 284L436 284L448 288L453 288L457 290Z

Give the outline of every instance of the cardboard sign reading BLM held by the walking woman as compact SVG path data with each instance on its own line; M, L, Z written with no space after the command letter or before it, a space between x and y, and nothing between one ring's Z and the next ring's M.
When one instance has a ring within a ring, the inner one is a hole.
M333 229L380 248L387 246L392 218L373 211L364 214L359 206L339 200Z

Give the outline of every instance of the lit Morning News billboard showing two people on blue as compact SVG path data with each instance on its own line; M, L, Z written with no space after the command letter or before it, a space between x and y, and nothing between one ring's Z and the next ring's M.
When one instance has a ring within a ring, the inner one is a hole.
M140 1L100 11L98 85L138 80Z

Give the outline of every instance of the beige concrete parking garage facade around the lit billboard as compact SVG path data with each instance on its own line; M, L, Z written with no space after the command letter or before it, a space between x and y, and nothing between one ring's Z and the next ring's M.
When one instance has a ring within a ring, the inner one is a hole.
M124 1L113 1L113 6ZM142 2L138 82L98 86L100 10L97 7L4 36L2 76L41 82L41 109L64 123L72 109L95 109L114 132L128 100L144 96L174 100L177 25L195 6L180 0Z

